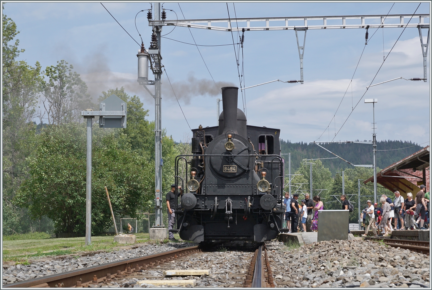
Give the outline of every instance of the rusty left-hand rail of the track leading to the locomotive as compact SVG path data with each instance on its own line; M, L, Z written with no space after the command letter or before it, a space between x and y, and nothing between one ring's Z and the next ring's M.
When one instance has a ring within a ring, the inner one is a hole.
M39 277L32 280L25 280L2 286L3 288L58 287L58 284L62 284L61 287L73 287L76 286L77 282L81 282L82 284L90 283L92 280L94 280L94 277L98 277L97 281L102 282L108 274L111 274L111 277L115 277L115 273L118 273L118 271L120 271L119 274L123 275L132 273L133 270L130 268L136 268L135 265L137 264L143 265L143 267L139 267L139 269L146 269L148 265L152 267L153 263L156 263L157 265L161 260L173 258L178 254L189 254L197 251L198 249L198 246L180 248L168 252L109 262L85 269L77 269L65 273Z

